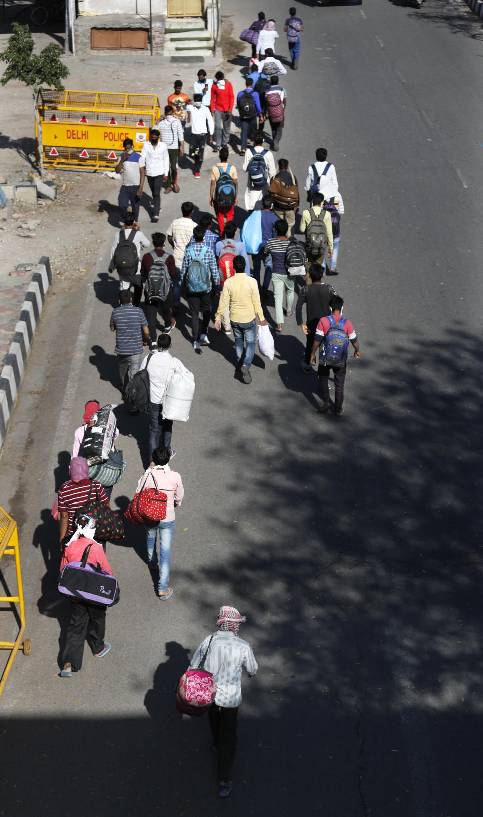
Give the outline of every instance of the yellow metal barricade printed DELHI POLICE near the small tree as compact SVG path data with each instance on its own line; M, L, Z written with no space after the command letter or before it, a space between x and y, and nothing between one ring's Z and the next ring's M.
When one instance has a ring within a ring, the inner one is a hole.
M43 163L92 170L113 170L125 139L132 139L135 150L141 150L149 139L149 129L161 117L156 94L40 88L37 109L42 127ZM35 141L39 163L37 122Z

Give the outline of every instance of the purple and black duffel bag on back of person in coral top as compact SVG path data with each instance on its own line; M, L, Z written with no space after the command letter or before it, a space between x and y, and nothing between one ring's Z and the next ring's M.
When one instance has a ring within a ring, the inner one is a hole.
M91 547L87 545L80 562L65 565L60 574L59 590L64 596L90 605L115 605L120 592L117 579L99 565L87 564Z

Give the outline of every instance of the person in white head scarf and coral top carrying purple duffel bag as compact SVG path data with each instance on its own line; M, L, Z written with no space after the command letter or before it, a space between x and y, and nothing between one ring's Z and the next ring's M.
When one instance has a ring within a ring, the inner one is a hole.
M79 514L76 531L65 545L64 555L60 563L60 572L65 565L71 562L80 562L86 547L91 545L91 550L87 556L88 565L99 565L113 575L113 570L106 559L102 546L95 542L95 520L90 514ZM89 635L89 645L94 658L100 659L109 653L111 645L104 641L105 633L105 607L102 605L90 605L86 601L70 600L70 622L67 628L66 643L62 657L61 678L72 678L73 672L80 672L82 668L82 655L84 653L84 641Z

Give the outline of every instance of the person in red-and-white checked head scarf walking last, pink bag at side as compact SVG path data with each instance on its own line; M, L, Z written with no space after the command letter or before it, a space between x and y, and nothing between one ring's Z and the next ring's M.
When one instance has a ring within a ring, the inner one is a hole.
M245 622L246 617L236 607L220 607L215 632L202 641L188 667L199 667L206 654L204 670L211 672L215 679L215 699L208 717L211 745L218 754L219 797L228 797L233 788L230 770L237 751L241 672L245 667L248 676L253 678L258 669L250 644L240 638L239 630Z

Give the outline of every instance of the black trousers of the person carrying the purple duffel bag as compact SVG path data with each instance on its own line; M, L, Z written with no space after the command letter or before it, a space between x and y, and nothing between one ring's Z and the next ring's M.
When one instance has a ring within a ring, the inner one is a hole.
M86 636L93 655L104 650L105 611L105 607L86 605L83 601L70 602L63 666L71 663L72 668L80 672Z

